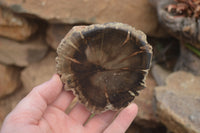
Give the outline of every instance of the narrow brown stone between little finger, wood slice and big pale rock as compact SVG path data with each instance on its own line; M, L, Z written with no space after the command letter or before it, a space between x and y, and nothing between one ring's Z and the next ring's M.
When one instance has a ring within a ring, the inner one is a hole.
M140 92L134 102L138 105L139 111L135 122L143 127L156 127L159 124L159 119L156 116L156 102L154 98L154 88L156 82L149 73L146 79L147 88Z

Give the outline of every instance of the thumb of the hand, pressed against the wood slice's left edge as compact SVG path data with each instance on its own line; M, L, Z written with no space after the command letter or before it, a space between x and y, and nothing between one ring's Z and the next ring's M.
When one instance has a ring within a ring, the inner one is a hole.
M20 119L26 118L22 121L37 122L46 110L47 105L57 98L61 90L62 82L60 77L55 74L49 81L33 88L16 106L12 113L13 116L16 113Z

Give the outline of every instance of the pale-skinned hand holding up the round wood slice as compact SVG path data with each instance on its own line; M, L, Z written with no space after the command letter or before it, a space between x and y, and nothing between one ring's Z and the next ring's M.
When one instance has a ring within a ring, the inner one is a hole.
M124 133L138 111L132 103L117 116L118 112L107 111L85 124L91 113L82 104L65 113L73 99L55 74L19 102L4 120L0 133Z

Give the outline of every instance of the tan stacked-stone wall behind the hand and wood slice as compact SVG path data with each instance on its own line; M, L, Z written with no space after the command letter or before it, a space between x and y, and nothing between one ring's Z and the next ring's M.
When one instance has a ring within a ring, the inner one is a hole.
M114 21L144 31L154 48L127 133L199 133L199 74L175 69L184 55L179 41L161 28L148 0L0 0L0 126L20 99L55 73L56 48L74 25Z

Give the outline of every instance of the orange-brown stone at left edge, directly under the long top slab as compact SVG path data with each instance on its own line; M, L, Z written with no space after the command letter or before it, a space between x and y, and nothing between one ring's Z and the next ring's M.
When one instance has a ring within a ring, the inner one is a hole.
M37 30L37 25L0 6L0 36L27 40Z

